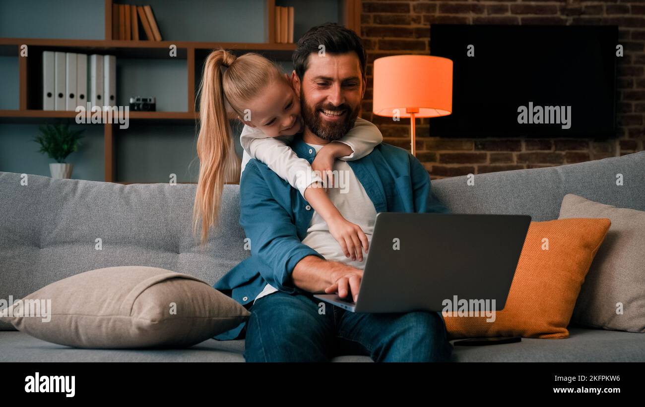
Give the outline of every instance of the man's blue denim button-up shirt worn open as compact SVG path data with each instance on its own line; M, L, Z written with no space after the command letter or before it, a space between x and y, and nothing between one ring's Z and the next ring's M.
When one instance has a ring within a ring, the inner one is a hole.
M300 158L313 162L316 151L297 135L291 143ZM376 146L360 160L348 161L379 212L450 213L430 188L430 177L408 151L390 144ZM301 241L313 208L299 191L258 160L250 160L240 180L240 225L250 238L251 256L233 267L213 288L246 308L267 283L278 290L304 292L291 273L306 256L323 258ZM214 339L235 339L246 322Z

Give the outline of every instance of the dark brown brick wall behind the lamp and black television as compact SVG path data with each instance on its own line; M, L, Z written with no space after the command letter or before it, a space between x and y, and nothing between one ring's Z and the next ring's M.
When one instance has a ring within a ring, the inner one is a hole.
M645 1L380 1L363 0L361 37L368 52L368 87L362 117L381 128L385 141L410 149L405 120L372 112L373 61L402 53L429 55L430 24L617 24L624 57L618 65L617 138L428 137L430 119L417 119L417 158L432 179L559 166L645 149ZM441 119L435 119L441 120ZM430 129L432 136L432 129Z

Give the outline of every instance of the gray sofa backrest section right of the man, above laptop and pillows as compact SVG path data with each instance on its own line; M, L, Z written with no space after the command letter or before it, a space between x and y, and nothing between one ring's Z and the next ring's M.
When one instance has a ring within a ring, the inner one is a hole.
M617 175L622 185L617 185ZM528 214L557 219L562 198L576 194L607 205L645 211L645 151L558 167L443 178L432 190L453 213Z

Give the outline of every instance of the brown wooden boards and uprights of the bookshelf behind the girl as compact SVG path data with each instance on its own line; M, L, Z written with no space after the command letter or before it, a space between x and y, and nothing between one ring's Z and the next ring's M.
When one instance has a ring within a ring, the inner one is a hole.
M337 22L344 24L348 28L360 33L360 11L361 0L318 0L318 3L325 2L335 6L338 10ZM104 0L104 39L50 39L50 38L0 38L0 56L17 57L18 59L18 103L17 109L0 109L0 124L41 124L51 119L67 120L74 122L76 117L75 111L45 111L42 106L42 52L44 50L54 50L60 52L78 52L78 53L109 53L116 55L117 66L119 59L171 59L168 50L172 44L177 46L177 56L172 57L174 61L181 60L182 70L185 64L186 75L183 79L177 79L174 86L185 89L183 99L186 102L185 111L152 111L152 112L130 112L130 122L135 126L157 126L166 124L180 124L183 126L199 126L198 106L195 106L195 95L197 87L201 80L201 69L206 55L214 48L226 48L237 55L245 52L258 52L274 61L289 61L295 44L293 43L275 43L275 32L273 19L275 18L274 10L276 3L278 5L291 5L296 7L296 21L298 26L313 26L319 22L309 23L310 18L306 13L298 14L299 7L311 7L312 2L307 0L301 1L276 1L266 0L263 5L264 19L264 41L256 43L235 43L227 42L210 42L210 41L119 41L112 39L112 4L113 3L132 3L131 1ZM152 1L134 2L139 4L153 4L155 13L159 8L163 8L164 3L153 3ZM315 4L315 2L314 2ZM320 5L319 5L320 6ZM99 12L100 10L96 10ZM248 12L245 10L245 12ZM155 14L156 16L157 14ZM333 20L332 20L333 21ZM240 30L244 30L241 26ZM164 27L160 25L162 35ZM163 37L165 40L165 36ZM299 38L296 30L294 41ZM28 46L28 56L21 57L21 46ZM163 62L162 62L163 63ZM117 82L119 81L117 77ZM175 81L174 81L175 82ZM180 85L183 82L184 85ZM117 84L118 86L118 84ZM185 86L185 88L184 88ZM118 88L117 88L118 89ZM117 90L117 105L125 106L126 97L131 94L123 95L123 92ZM148 96L148 95L142 95ZM177 95L179 97L179 95ZM181 102L183 105L183 102ZM159 108L159 102L157 104ZM79 125L87 126L87 125ZM97 126L95 124L94 126ZM117 123L102 123L103 126L103 145L104 145L104 181L119 182L121 184L148 183L148 180L119 181L117 180L117 149L115 139L128 137L126 131L119 131ZM196 135L196 133L195 133Z

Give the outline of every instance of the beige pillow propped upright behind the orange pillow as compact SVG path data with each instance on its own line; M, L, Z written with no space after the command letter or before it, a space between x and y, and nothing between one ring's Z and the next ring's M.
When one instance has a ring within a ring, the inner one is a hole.
M645 332L645 212L566 194L560 218L608 218L611 227L591 263L571 322Z

